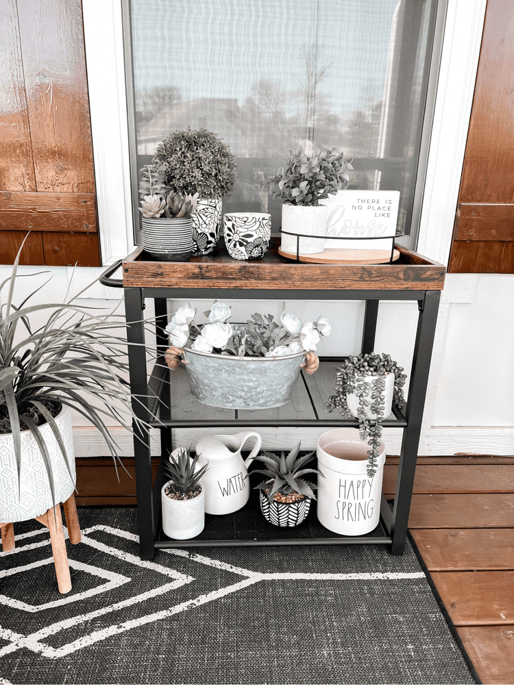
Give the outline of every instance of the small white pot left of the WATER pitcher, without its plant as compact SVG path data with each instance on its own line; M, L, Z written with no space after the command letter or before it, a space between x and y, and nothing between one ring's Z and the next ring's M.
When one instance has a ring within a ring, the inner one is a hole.
M194 539L205 526L205 487L202 486L202 491L196 498L174 500L167 497L164 492L166 486L171 483L168 481L161 488L163 532L170 536L170 539Z

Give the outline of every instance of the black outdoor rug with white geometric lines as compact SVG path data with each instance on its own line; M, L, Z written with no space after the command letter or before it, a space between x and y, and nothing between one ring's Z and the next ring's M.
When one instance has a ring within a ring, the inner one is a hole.
M474 684L410 543L138 554L136 510L81 508L0 554L0 684Z

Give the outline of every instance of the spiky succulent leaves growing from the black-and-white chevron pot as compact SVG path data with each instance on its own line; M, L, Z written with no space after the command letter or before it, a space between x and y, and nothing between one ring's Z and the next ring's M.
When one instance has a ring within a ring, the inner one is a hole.
M302 467L314 459L314 451L308 455L299 456L301 441L299 441L289 455L285 457L284 451L281 452L280 457L274 453L268 453L266 450L257 457L267 465L266 469L254 469L252 473L264 474L267 479L261 482L255 488L267 491L270 502L274 499L276 493L287 495L288 493L301 493L309 498L316 500L314 489L318 488L316 484L312 484L303 480L305 474L323 474L318 469L302 469Z

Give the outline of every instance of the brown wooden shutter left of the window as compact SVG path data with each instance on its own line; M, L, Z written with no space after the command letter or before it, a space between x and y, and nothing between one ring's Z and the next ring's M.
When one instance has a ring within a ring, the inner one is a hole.
M0 17L0 263L99 266L81 1Z

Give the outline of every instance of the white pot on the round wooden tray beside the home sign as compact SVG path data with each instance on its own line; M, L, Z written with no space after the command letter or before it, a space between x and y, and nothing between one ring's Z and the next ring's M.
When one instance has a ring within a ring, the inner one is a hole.
M282 205L281 249L296 255L296 241L299 241L299 254L311 255L325 249L328 207L296 206L289 203ZM284 233L287 231L288 233ZM294 234L294 235L290 235ZM320 238L296 238L314 235Z

